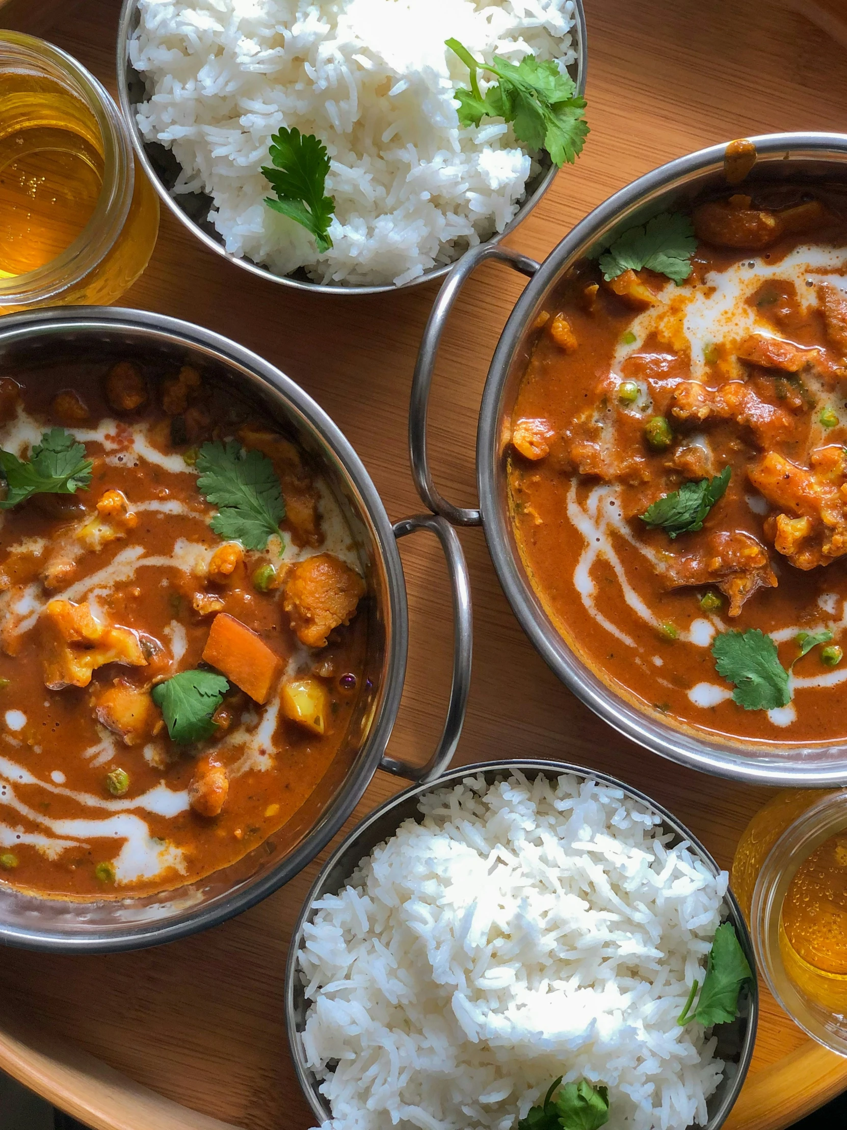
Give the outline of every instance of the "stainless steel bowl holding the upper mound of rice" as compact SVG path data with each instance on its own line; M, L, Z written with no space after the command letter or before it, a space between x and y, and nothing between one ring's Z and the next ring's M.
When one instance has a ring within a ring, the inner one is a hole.
M576 62L569 69L570 76L576 82L577 92L585 94L586 76L586 27L583 0L571 0L574 5L574 29L571 35L576 40ZM158 192L163 203L171 209L176 218L187 227L206 246L222 255L236 267L256 275L271 282L280 282L282 286L297 287L299 290L324 292L333 295L365 295L365 294L387 294L392 290L405 289L407 287L421 286L424 282L431 282L434 279L444 278L451 270L452 263L444 267L434 267L425 271L411 282L403 284L402 287L393 286L344 286L339 282L313 282L305 271L296 271L292 275L274 275L273 271L260 263L254 263L251 259L230 254L224 246L224 241L212 224L209 221L209 210L212 201L211 197L204 193L181 193L173 195L172 189L180 174L180 165L169 149L157 142L146 141L141 137L136 120L136 106L147 97L146 85L142 75L132 67L129 56L129 42L132 33L138 27L138 5L139 0L123 0L121 21L117 29L117 94L123 116L132 137L132 145L136 149L141 166L152 181L154 188ZM447 33L445 33L447 34ZM535 205L550 188L558 169L550 160L547 153L542 153L539 159L540 171L527 182L524 201L518 208L515 218L505 231L491 236L481 246L494 246L515 228L524 217L529 216ZM459 257L463 259L468 252Z

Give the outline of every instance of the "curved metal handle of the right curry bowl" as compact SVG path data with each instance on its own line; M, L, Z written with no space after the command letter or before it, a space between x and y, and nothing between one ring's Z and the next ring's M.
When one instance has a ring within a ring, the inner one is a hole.
M418 350L412 379L412 395L409 405L409 454L412 463L412 476L421 499L436 514L446 518L453 525L479 525L482 521L479 510L454 506L444 498L433 481L427 458L427 412L429 410L429 390L433 385L435 360L438 355L444 327L453 308L453 303L468 281L469 276L486 259L497 259L501 263L521 271L532 278L541 266L534 259L522 255L518 251L501 247L499 244L482 243L473 251L463 255L444 280L438 296L433 305L427 328Z

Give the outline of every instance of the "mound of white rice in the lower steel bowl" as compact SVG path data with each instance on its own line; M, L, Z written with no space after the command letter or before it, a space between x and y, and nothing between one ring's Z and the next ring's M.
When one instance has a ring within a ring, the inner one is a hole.
M466 777L421 809L306 927L325 1130L512 1130L558 1075L609 1087L610 1128L705 1123L725 1066L676 1017L726 873L573 776Z

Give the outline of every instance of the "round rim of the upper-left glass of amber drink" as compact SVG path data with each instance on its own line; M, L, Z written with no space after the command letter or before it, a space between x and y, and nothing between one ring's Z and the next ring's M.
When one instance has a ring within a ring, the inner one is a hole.
M0 305L44 304L85 278L108 254L126 221L134 190L132 145L108 90L66 51L33 35L3 29L11 49L0 71L26 68L61 80L91 112L103 141L103 185L94 211L76 240L43 267L0 279Z

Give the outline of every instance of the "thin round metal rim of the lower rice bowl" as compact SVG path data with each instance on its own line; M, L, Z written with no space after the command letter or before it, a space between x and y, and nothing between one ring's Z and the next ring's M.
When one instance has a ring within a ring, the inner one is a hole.
M313 1075L311 1068L306 1066L303 1040L300 1038L300 1031L298 1029L299 1017L296 1001L298 977L297 956L303 945L304 927L313 916L312 904L316 898L320 898L325 894L337 893L337 890L330 890L328 881L332 873L339 869L342 862L344 863L343 873L346 877L341 880L343 885L343 883L349 879L357 869L360 860L370 854L378 844L383 843L387 836L393 835L404 819L413 817L414 811L417 811L417 799L424 792L451 788L464 777L475 776L480 773L486 777L486 782L490 784L496 781L498 776L506 776L515 772L524 771L529 771L533 774L533 776L543 774L549 777L557 777L569 773L582 779L583 781L596 780L603 784L620 789L628 800L636 800L650 811L656 812L661 817L664 831L672 832L674 835L679 836L680 840L688 841L691 850L706 864L713 875L717 875L722 870L711 853L704 846L702 843L700 843L697 836L695 836L688 827L678 819L678 817L675 817L658 801L654 800L647 793L641 792L640 789L628 784L626 781L621 781L619 777L615 777L610 773L593 770L585 765L577 765L571 762L547 760L544 758L535 757L474 762L469 765L453 766L436 781L430 781L425 784L414 784L404 789L402 792L396 793L394 797L390 797L372 812L368 812L367 816L363 817L363 819L343 837L330 858L322 864L308 889L300 912L297 916L297 922L291 931L291 941L288 948L288 957L285 970L283 991L286 1032L288 1035L291 1059L294 1061L295 1074L297 1075L297 1081L300 1085L300 1089L303 1090L312 1112L315 1118L321 1120L321 1122L325 1123L330 1120L332 1118L332 1113L328 1102L318 1092L318 1080ZM412 801L414 801L413 805L411 803ZM394 809L403 809L403 814L398 816L396 823L393 819L391 820L390 828L392 831L385 833L384 829L379 829L378 838L373 838L374 835L374 825L382 822L383 817L387 816ZM407 811L407 809L411 810ZM370 833L370 835L368 835L368 833ZM359 845L360 840L364 841L361 845ZM753 971L753 976L752 982L748 986L749 1005L745 1018L746 1024L744 1026L744 1035L741 1041L737 1070L727 1084L726 1093L723 1096L715 1114L709 1118L708 1122L701 1128L701 1130L719 1130L719 1127L723 1125L734 1106L750 1067L759 1022L759 980L750 931L746 922L744 921L744 915L741 912L741 907L735 898L735 895L730 887L727 887L723 901L726 905L727 912L724 921L732 922L735 928L750 967ZM691 1128L687 1128L687 1130L691 1130Z

